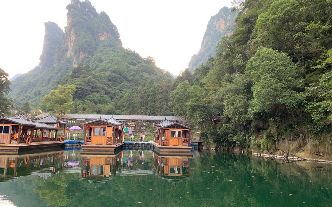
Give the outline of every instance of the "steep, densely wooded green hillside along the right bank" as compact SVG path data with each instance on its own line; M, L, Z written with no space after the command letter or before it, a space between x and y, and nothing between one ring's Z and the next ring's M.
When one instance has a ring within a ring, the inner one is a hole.
M176 78L175 114L217 146L331 154L332 1L235 2L215 58Z

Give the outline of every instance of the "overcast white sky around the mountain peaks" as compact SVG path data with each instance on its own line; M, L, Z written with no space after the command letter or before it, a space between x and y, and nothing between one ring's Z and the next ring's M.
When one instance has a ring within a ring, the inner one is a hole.
M70 0L0 1L0 68L13 77L39 63L44 22L64 30ZM177 75L197 53L211 16L230 0L91 0L118 27L125 48L151 56L159 68Z

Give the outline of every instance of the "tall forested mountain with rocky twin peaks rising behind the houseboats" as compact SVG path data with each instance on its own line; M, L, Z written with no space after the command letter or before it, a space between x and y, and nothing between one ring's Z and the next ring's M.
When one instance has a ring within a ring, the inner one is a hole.
M9 97L14 104L21 106L29 100L38 106L52 88L68 83L76 85L73 112L115 113L116 108L118 113L145 112L148 103L133 100L141 100L140 87L149 84L149 90L156 91L149 97L160 101L155 104L166 105L159 114L170 113L168 99L163 97L169 94L163 93L164 86L170 87L173 81L170 73L157 68L152 58L124 49L117 27L89 1L72 0L67 10L64 32L55 23L45 23L40 64L13 80Z

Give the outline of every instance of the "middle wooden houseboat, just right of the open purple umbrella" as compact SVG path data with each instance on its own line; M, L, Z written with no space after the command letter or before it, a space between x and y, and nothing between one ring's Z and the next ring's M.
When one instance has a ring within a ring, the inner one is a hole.
M83 153L114 154L123 145L123 124L113 116L84 123Z

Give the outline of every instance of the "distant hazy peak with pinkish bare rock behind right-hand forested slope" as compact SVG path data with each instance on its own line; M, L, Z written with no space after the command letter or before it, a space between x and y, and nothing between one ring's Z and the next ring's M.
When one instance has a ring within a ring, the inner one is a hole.
M201 49L197 54L191 57L189 62L189 71L194 71L195 68L200 67L207 62L207 59L216 54L217 43L225 36L229 36L234 31L234 20L237 16L237 11L231 11L228 7L223 7L219 12L212 16L207 23L207 29L203 36Z

